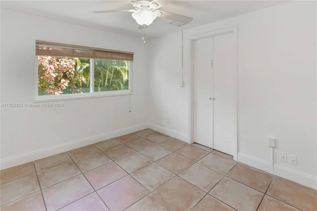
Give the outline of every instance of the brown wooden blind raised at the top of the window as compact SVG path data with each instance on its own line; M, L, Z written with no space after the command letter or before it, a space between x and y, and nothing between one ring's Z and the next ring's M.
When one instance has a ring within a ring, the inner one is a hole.
M134 53L37 40L36 55L133 61Z

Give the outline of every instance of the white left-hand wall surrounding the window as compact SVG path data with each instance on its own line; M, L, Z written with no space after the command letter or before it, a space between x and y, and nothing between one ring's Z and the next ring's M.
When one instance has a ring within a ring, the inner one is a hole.
M147 127L141 39L1 8L1 103L34 103L35 40L134 52L129 95L58 101L62 108L1 108L1 168Z

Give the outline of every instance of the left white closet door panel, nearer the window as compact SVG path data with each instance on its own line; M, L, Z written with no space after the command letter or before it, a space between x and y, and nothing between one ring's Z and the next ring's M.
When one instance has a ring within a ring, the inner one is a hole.
M213 38L194 41L194 142L213 147Z

